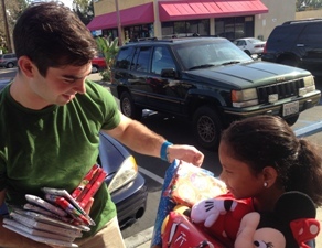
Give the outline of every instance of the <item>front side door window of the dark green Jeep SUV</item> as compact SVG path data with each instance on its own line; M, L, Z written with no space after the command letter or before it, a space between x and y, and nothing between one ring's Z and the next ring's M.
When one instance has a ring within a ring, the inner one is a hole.
M157 46L153 50L151 72L160 75L164 68L175 68L175 64L167 47Z

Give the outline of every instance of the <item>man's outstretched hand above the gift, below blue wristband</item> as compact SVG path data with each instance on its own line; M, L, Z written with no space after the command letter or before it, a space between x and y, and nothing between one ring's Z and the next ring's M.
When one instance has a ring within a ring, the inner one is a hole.
M204 161L204 154L192 145L173 144L168 148L168 161L172 163L174 159L201 166Z

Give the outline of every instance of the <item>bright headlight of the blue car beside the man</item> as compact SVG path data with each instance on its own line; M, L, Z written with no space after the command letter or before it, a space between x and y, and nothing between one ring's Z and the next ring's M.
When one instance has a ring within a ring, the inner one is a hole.
M120 165L120 169L116 173L116 175L112 177L110 184L108 185L108 191L110 193L117 191L125 184L132 181L138 174L138 165L136 162L136 159L130 155L128 157L122 164Z

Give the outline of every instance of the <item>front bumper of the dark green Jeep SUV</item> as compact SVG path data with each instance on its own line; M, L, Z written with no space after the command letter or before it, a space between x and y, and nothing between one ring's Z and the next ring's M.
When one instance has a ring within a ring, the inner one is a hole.
M315 90L314 93L310 94L307 97L301 98L292 98L291 101L299 101L299 114L314 107L319 104L321 98L321 91ZM271 115L271 116L280 116L282 118L288 118L289 116L282 116L282 108L283 104L291 103L289 99L280 100L279 103L271 104L271 105L262 105L260 107L254 106L249 108L243 108L239 109L239 111L236 111L236 108L232 110L230 108L225 108L224 114L228 116L229 121L236 120L236 119L244 119L253 116L258 115Z

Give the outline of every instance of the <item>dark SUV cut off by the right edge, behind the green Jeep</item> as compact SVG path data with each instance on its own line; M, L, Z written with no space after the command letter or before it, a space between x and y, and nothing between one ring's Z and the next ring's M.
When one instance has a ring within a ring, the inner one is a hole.
M322 19L289 21L276 26L261 60L301 67L322 76Z

